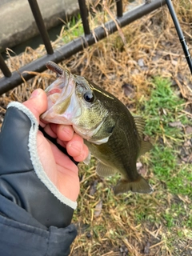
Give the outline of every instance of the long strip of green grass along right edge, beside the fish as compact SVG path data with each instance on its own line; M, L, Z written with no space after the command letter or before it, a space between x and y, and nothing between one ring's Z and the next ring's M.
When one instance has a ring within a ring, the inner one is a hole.
M148 164L170 193L192 196L190 164L179 161L183 142L187 139L182 127L190 124L182 114L185 101L171 88L168 79L154 78L153 86L150 100L145 101L142 112L146 118L146 134L154 137ZM180 122L180 125L171 127L172 122Z

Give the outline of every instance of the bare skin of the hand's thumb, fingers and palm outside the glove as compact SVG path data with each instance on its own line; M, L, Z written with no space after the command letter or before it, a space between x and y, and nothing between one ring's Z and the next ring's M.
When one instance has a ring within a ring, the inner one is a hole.
M40 126L44 128L46 134L52 138L57 138L58 144L66 147L67 153L77 162L82 162L89 154L83 139L74 133L72 126L56 125L42 122L39 116L46 111L46 93L41 90L34 90L25 105L37 118ZM42 167L54 186L66 197L76 201L79 193L78 166L63 154L58 147L47 140L41 131L37 134L38 156L42 162Z

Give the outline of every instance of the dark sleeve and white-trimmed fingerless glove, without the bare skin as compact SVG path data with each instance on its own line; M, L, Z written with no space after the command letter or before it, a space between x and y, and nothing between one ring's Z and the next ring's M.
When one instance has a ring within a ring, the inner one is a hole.
M18 103L8 108L2 124L1 256L68 255L77 234L75 227L70 225L73 204L67 198L63 203L60 194L55 196L55 188L42 182L43 172L39 174L40 178L37 175L42 166L39 159L34 159L37 152L31 152L35 151L35 142L32 142L33 148L30 146L30 140L35 140L38 130L35 120L30 110Z

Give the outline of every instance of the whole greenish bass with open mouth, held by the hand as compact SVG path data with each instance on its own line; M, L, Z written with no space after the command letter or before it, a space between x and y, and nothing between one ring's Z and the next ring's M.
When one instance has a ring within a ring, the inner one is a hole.
M98 159L99 176L121 174L114 194L153 192L136 167L138 157L152 147L143 140L144 118L130 114L118 98L88 79L54 62L47 62L46 67L58 78L46 88L48 107L42 120L73 126Z

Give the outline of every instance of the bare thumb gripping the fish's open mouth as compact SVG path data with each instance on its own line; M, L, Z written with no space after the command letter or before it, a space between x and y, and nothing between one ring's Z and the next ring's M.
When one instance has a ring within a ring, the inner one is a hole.
M22 103L25 105L37 118L39 122L39 116L47 109L46 93L42 89L34 90L30 98Z

